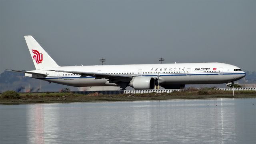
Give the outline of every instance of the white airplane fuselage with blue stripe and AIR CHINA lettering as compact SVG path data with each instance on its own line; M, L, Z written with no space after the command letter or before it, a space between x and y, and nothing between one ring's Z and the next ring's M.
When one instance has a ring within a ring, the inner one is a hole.
M150 76L159 78L160 85L168 84L220 84L239 80L245 76L245 72L237 66L224 63L184 63L184 64L130 64L130 65L96 65L96 66L60 66L55 68L43 68L30 72L48 74L46 77L38 77L26 74L33 78L46 80L68 86L117 86L106 78L93 76L81 76L67 72L54 72L50 70L84 71L105 74L130 75L133 77ZM236 70L236 71L235 71Z

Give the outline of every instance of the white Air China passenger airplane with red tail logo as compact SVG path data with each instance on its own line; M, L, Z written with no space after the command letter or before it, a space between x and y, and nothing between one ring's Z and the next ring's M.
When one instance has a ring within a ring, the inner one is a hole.
M184 88L186 84L232 83L246 73L230 64L174 63L59 66L32 36L24 36L36 70L13 72L68 86L119 86L125 89Z

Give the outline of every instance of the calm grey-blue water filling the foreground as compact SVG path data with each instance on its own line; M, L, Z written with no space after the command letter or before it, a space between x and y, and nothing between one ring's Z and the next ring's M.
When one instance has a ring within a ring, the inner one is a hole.
M0 105L0 143L256 144L256 98Z

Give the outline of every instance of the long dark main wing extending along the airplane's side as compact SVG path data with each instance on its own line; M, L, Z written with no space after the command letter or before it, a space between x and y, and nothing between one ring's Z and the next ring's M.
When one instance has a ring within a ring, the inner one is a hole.
M51 71L79 74L81 75L81 77L94 76L96 79L106 78L112 82L115 82L115 81L130 82L133 78L130 75L105 74L105 73L98 73L98 72L80 72L80 71L70 71L70 70L51 70Z

